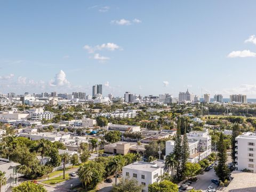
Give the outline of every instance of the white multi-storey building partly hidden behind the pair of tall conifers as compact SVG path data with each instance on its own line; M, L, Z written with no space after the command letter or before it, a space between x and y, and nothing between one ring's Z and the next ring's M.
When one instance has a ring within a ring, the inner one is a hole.
M211 154L211 136L208 135L208 130L191 131L187 133L187 137L189 146L188 162L198 163ZM165 145L165 155L173 153L175 141L166 141Z

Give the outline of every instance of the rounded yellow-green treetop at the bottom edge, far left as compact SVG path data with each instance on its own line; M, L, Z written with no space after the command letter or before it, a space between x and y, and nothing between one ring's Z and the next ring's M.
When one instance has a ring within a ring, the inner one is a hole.
M47 192L42 185L31 181L22 182L19 186L13 187L12 192Z

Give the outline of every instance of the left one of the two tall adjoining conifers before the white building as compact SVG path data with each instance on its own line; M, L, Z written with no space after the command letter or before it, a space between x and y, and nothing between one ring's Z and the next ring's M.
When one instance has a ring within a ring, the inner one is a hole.
M182 139L181 139L181 133L180 133L180 119L178 119L178 123L177 123L177 132L175 134L174 137L175 143L174 143L174 149L173 149L173 153L175 155L175 160L177 161L177 165L176 165L176 177L178 179L181 179L181 169L180 169L180 162L181 162L181 158L182 158Z

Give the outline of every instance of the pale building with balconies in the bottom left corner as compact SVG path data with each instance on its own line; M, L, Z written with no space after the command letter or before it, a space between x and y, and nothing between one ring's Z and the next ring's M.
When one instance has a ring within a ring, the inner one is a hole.
M23 176L23 174L17 172L17 166L19 165L19 163L0 158L0 170L5 172L5 177L7 179L6 185L3 185L0 191L9 192L12 187L16 187L20 184L18 178Z

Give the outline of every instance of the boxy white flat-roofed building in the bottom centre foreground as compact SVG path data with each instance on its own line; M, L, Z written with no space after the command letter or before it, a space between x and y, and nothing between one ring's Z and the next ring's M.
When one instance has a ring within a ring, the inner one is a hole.
M139 184L144 185L142 192L148 192L148 185L158 182L158 177L165 172L164 161L156 160L153 162L134 162L123 167L123 177L136 179Z

